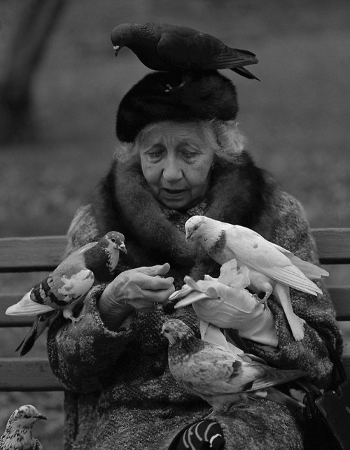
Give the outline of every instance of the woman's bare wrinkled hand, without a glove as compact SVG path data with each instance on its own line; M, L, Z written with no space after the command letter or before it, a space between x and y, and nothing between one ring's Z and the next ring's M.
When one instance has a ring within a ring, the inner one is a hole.
M101 318L110 330L118 330L134 310L151 311L155 303L167 302L174 292L174 279L164 278L168 263L125 270L109 284L99 300Z

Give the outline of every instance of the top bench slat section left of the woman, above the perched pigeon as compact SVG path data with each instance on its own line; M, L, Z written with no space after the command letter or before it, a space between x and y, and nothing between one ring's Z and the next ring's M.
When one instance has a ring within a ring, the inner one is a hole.
M65 236L0 239L0 272L52 270L62 261Z

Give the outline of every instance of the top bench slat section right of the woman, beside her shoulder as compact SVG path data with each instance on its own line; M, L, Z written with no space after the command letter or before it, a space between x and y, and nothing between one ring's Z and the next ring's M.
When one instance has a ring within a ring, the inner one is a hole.
M350 264L350 228L314 228L322 264Z

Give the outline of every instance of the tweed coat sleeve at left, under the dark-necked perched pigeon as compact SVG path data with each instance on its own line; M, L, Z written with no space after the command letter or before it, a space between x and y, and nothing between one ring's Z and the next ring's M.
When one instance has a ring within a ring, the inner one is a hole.
M80 208L68 232L66 254L96 240L97 227L90 206ZM48 332L48 358L52 372L71 391L99 391L118 374L118 358L135 339L132 324L112 332L102 322L97 303L106 285L94 286L84 300L76 324L59 314Z

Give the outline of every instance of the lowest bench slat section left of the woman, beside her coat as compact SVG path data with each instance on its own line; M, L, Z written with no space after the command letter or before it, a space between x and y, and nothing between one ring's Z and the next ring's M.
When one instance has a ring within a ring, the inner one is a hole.
M47 358L0 358L0 391L64 391Z

